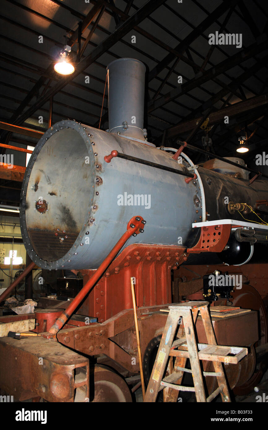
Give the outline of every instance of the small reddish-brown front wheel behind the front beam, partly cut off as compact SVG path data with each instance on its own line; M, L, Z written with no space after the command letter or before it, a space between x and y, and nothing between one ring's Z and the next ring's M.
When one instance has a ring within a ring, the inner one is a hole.
M129 387L124 379L103 365L95 365L94 373L89 376L89 396L90 402L93 403L132 402Z

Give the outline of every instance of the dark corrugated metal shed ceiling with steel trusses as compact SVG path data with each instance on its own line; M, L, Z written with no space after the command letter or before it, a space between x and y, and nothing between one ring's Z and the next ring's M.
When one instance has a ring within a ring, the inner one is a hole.
M147 67L149 141L177 146L180 139L202 147L208 133L209 150L231 157L246 128L250 151L242 157L249 164L267 146L267 1L2 0L1 13L0 121L44 130L51 106L52 123L74 118L98 127L107 64L132 57ZM241 34L242 46L210 45L209 34L216 31ZM60 77L53 65L66 36L76 71ZM107 119L106 86L102 129L108 128ZM37 138L5 130L0 143L25 148ZM202 161L203 156L190 155ZM25 166L25 153L15 160ZM2 177L0 201L17 204L20 186Z

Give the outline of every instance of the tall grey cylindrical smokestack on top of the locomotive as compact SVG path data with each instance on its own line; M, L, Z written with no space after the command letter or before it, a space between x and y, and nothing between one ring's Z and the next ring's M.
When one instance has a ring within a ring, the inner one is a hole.
M109 132L144 141L145 65L134 58L118 58L107 71Z

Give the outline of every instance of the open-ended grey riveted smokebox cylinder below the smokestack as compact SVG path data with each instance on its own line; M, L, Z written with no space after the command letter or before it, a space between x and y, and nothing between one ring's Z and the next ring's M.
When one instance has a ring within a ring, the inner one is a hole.
M38 266L95 269L134 215L147 221L145 231L124 247L194 243L192 223L202 213L198 181L186 184L185 176L119 157L106 163L112 150L180 172L188 166L165 151L75 121L55 124L35 147L22 185L22 237ZM37 209L40 198L45 212Z

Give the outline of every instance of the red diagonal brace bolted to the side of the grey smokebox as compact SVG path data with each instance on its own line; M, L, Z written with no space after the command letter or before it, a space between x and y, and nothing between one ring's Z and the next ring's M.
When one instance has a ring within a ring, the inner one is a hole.
M98 279L102 276L102 273L107 269L107 267L114 260L114 258L116 257L116 255L118 254L122 246L129 239L129 237L132 236L133 234L135 235L139 234L140 232L139 230L143 230L144 224L146 224L146 221L144 221L144 219L140 216L136 216L136 217L134 216L131 218L131 220L127 224L126 232L123 234L123 236L120 237L117 244L109 252L107 257L102 261L102 264L95 271L94 275L87 281L87 283L83 286L80 292L75 296L74 300L71 301L69 306L66 307L64 312L62 312L59 318L55 321L53 326L49 329L49 333L56 335L59 332L59 330L62 328L65 322L74 313L74 310L81 303L83 298L87 295L87 293L92 289L92 287L95 285Z

